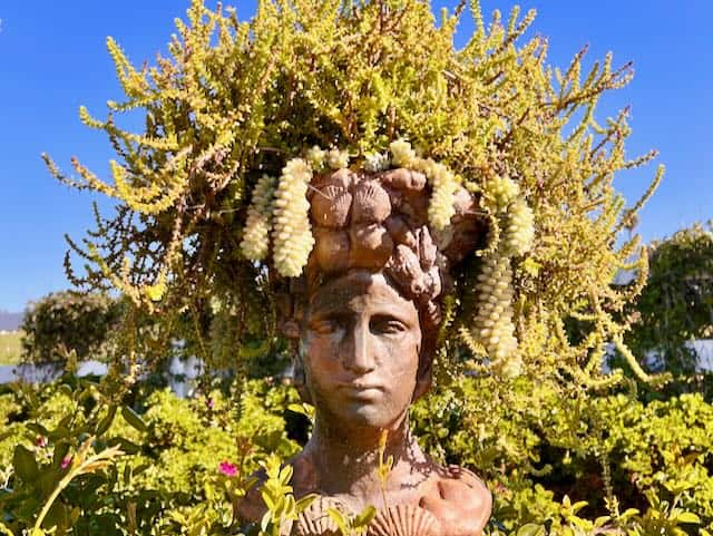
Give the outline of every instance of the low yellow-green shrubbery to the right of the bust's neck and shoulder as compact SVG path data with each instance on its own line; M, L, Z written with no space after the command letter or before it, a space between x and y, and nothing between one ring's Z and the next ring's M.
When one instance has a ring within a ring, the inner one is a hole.
M488 403L492 381L439 390L411 418L432 456L487 476L494 522L510 529L555 523L565 497L585 500L582 513L594 519L609 515L616 497L641 511L655 500L671 510L676 504L713 527L713 406L701 394L645 405L621 393L583 403L519 379L509 399Z

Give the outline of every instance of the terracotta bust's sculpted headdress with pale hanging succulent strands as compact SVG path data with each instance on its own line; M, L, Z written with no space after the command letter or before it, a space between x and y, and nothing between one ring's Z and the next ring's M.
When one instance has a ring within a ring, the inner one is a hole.
M311 289L351 269L383 272L417 305L424 350L432 357L443 299L457 299L452 271L485 247L488 213L479 206L481 196L447 166L417 156L404 140L389 149L349 167L345 152L313 147L304 158L289 160L279 178L263 176L241 247L246 257L267 261L274 280L290 281L280 300L287 334L296 335ZM501 243L491 244L484 257L476 328L466 337L480 341L491 361L512 374L519 360L509 257L529 248L534 230L515 183L499 188L514 214L504 218Z

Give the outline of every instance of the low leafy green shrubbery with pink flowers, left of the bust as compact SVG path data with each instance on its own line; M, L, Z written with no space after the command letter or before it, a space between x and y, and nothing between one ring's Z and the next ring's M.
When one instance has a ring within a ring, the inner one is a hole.
M236 403L219 391L182 400L139 389L140 415L107 398L104 388L66 376L0 396L0 474L8 478L0 488L0 520L14 534L32 527L69 470L62 460L77 459L88 438L90 454L118 447L125 455L62 489L45 523L47 529L56 525L57 534L126 534L127 527L183 534L187 524L227 526L232 499L257 461L268 451L287 457L299 449L285 432L286 407L297 400L287 386L238 382ZM221 462L237 467L238 475L223 475Z

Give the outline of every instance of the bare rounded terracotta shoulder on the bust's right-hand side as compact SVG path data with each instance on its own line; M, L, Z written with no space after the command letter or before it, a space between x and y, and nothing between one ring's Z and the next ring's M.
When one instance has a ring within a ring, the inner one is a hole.
M480 536L492 511L492 496L475 472L442 468L419 501L441 526L441 536Z

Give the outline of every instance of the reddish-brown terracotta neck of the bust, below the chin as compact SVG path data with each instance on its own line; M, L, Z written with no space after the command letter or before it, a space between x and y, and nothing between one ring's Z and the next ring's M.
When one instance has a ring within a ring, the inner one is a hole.
M316 491L321 495L349 496L352 506L381 506L383 491L408 484L413 467L430 460L411 435L407 416L387 435L383 452L380 449L382 430L370 427L330 426L318 418L310 442L305 447L314 464ZM392 457L393 465L385 483L379 476L380 460L384 465ZM385 487L384 487L385 485Z

